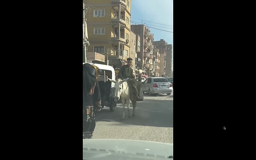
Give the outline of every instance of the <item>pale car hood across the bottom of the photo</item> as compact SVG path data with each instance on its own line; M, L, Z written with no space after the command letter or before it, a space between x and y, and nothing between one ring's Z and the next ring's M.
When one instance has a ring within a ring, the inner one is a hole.
M173 143L121 139L83 140L83 160L161 160L166 158L173 158Z

